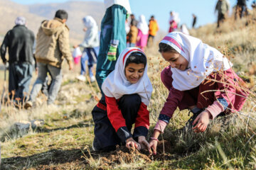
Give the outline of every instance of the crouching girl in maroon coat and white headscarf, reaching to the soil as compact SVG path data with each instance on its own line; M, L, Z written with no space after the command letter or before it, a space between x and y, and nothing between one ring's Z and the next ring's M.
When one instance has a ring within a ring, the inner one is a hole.
M228 59L198 38L169 33L159 43L159 52L170 63L161 72L161 81L170 92L149 143L154 154L157 137L164 132L177 106L193 113L188 125L194 125L194 132L204 132L210 119L240 111L247 96L237 88L243 81L233 72Z

